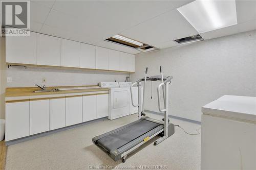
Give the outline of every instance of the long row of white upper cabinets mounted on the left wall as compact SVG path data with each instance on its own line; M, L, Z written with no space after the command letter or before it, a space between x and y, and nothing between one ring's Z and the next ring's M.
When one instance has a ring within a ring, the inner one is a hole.
M132 54L34 32L30 36L6 36L6 62L135 71Z

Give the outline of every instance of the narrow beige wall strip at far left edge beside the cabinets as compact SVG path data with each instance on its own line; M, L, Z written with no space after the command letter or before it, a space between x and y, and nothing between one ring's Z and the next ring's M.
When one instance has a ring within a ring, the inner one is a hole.
M5 88L6 88L6 64L5 64L5 38L0 37L0 118L5 118Z

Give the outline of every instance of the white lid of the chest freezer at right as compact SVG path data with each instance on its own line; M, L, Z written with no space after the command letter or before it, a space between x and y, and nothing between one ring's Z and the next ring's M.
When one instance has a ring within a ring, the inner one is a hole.
M256 97L223 95L202 107L203 114L256 123Z

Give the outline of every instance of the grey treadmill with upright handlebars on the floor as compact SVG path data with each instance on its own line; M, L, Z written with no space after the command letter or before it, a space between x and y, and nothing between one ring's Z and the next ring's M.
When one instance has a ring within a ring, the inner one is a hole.
M160 66L160 76L147 77L147 68L145 71L145 77L138 80L131 85L131 98L134 107L138 106L138 120L133 123L124 125L120 128L96 136L92 139L93 143L97 145L102 151L107 153L113 160L117 161L122 158L122 162L125 162L127 155L134 150L138 149L142 144L152 139L156 135L160 135L154 145L159 144L175 132L174 125L169 123L168 119L168 84L173 78L172 76L163 76ZM164 113L162 120L157 120L146 116L144 113L144 98L141 96L141 85L144 81L143 95L145 92L146 81L161 81L157 88L158 93L158 108L159 111ZM138 86L138 104L134 104L132 87ZM161 108L161 95L160 89L163 91L163 106ZM143 99L143 101L142 101ZM142 106L141 106L142 101Z

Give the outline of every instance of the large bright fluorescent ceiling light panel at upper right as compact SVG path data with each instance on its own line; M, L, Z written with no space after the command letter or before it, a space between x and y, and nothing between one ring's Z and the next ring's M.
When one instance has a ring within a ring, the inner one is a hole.
M236 1L196 0L177 10L199 32L236 25Z

